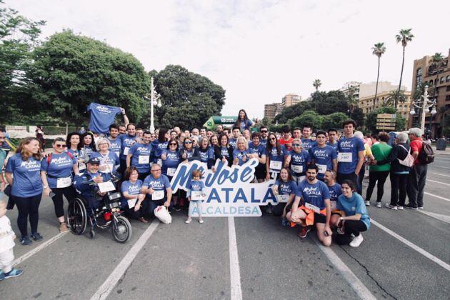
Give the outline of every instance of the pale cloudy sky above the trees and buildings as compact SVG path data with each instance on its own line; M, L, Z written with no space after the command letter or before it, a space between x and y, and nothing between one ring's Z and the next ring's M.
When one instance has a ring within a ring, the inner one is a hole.
M134 54L147 71L180 64L226 89L223 115L246 109L262 117L264 104L285 94L306 98L312 81L323 90L346 81L376 80L371 47L386 45L380 80L398 84L399 29L411 28L404 84L411 89L414 59L450 48L450 1L235 0L115 1L6 0L31 19L47 21L43 39L61 31L106 41Z

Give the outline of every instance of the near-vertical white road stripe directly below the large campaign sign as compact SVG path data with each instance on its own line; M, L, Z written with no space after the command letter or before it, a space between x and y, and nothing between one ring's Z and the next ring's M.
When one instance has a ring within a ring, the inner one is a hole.
M239 271L239 256L237 252L236 230L234 229L234 217L228 217L228 236L230 248L230 282L231 300L241 300L241 271Z

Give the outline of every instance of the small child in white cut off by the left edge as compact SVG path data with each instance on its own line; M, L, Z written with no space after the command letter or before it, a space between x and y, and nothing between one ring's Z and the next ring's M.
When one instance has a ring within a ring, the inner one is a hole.
M14 269L14 239L16 235L11 228L11 222L6 216L6 201L0 199L0 280L17 277L22 270Z

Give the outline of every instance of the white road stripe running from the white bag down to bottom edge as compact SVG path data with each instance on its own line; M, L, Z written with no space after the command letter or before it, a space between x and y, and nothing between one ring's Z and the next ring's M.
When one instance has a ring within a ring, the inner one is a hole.
M144 234L139 237L136 243L131 247L131 249L126 253L121 262L116 266L116 269L112 271L111 275L106 279L106 281L99 287L91 300L106 299L106 297L111 293L114 286L116 286L117 281L121 279L124 275L126 269L129 268L130 264L136 258L136 255L141 251L142 247L145 245L146 241L149 240L151 234L154 233L156 227L159 225L159 219L155 219L151 222L149 228L144 231Z

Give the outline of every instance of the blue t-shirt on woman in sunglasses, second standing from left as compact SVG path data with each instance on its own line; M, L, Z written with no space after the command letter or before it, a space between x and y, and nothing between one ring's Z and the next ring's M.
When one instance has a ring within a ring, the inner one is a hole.
M49 154L49 157L44 157L41 160L41 171L47 172L47 182L49 183L50 189L56 189L57 181L56 178L67 178L72 176L72 170L74 164L78 162L75 156L70 156L67 152L61 154ZM48 163L50 160L50 164Z

